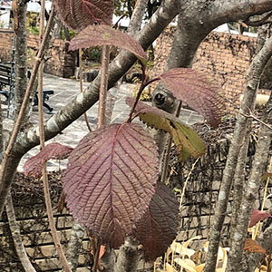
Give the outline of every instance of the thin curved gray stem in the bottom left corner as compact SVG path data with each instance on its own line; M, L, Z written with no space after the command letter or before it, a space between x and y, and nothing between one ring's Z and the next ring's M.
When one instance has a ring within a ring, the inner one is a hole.
M9 228L12 234L12 237L15 242L15 249L17 255L24 267L25 272L36 272L33 265L31 264L29 258L24 249L24 244L20 234L20 228L17 224L16 217L15 217L15 209L13 204L12 195L10 192L7 194L6 203L5 203L5 210L8 219Z

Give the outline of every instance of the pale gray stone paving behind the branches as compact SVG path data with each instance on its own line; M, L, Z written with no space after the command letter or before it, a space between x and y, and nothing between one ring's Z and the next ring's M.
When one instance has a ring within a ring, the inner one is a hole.
M83 88L88 86L89 83L83 83ZM125 98L131 96L133 89L132 84L121 84L111 89L112 96L115 98L115 103L112 111L112 122L122 122L124 121L130 108L125 103ZM73 97L80 92L80 84L78 81L73 79L63 79L50 74L44 74L44 90L53 90L54 94L50 95L49 105L53 107L53 112L57 112L62 109L62 107L67 103L73 100ZM92 129L96 127L96 115L97 115L98 103L92 106L92 108L87 112L88 121L91 124ZM35 109L34 109L35 110ZM50 114L44 113L44 120L47 120L51 117ZM202 117L199 116L196 112L192 112L186 109L182 109L180 112L180 119L189 124L201 121ZM38 122L37 112L33 112L32 122ZM63 130L61 134L58 134L52 140L47 141L46 143L57 141L62 144L67 144L72 147L75 147L83 136L88 132L86 123L83 116L78 120L73 121L73 123ZM23 170L23 165L25 160L34 156L39 151L39 147L35 147L27 154L24 155L23 159L20 162L18 170ZM66 161L50 160L48 161L48 170L59 170L65 168Z

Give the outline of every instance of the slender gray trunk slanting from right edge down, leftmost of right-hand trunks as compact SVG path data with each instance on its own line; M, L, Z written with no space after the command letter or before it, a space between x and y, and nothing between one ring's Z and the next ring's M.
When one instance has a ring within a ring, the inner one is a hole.
M220 232L224 223L225 213L227 210L229 190L234 178L235 170L238 162L238 154L245 139L248 118L242 114L248 114L253 111L256 99L257 86L263 69L269 60L272 51L272 38L269 38L263 48L254 57L251 63L248 76L247 86L244 92L244 99L241 103L241 108L238 114L233 139L228 151L228 160L223 174L221 188L219 190L219 199L213 218L213 224L210 230L209 252L207 254L206 266L204 272L213 272L216 267L216 260L220 241ZM247 223L248 224L248 223ZM248 225L246 225L248 226ZM233 235L235 237L235 234ZM234 242L235 243L235 242Z

